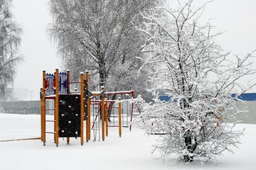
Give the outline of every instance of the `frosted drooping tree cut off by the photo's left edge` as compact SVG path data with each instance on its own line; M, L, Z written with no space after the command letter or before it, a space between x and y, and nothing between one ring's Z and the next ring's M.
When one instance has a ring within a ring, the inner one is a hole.
M21 62L18 47L21 42L21 27L13 20L11 0L0 0L0 92L4 94L7 84L14 82L16 64Z

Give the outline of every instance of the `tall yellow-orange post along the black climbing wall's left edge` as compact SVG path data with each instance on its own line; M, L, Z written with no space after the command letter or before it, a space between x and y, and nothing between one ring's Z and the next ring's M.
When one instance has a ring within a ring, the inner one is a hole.
M55 144L56 147L58 147L58 91L59 91L59 74L58 69L55 70Z

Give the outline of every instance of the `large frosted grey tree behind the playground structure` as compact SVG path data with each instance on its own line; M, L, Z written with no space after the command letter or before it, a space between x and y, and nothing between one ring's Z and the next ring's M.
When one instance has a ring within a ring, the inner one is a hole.
M145 38L134 24L142 23L141 13L158 3L51 0L53 23L49 33L58 42L64 66L77 75L89 70L91 89L105 86L107 91L142 90L146 79L134 75L141 67L136 57L142 56Z

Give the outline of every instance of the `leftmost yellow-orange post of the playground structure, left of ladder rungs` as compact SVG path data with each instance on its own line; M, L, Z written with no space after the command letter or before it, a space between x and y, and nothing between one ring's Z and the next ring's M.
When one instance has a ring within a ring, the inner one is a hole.
M46 146L46 71L43 71L43 96L41 99L41 122L42 122L42 128L41 128L41 134L42 134L42 141L43 146Z

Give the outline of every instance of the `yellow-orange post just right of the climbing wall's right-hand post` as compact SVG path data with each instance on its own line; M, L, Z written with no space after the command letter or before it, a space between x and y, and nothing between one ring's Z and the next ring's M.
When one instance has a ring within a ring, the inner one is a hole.
M89 72L85 71L85 87L86 90L89 90ZM87 119L86 119L86 141L90 140L90 98L87 96Z

